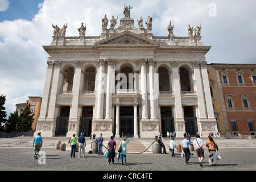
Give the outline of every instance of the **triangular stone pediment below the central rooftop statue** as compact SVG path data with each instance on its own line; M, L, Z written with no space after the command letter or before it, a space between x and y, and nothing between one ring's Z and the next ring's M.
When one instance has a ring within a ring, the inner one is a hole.
M95 43L96 46L159 46L159 43L151 39L142 37L130 31L124 31L119 34L102 39Z

